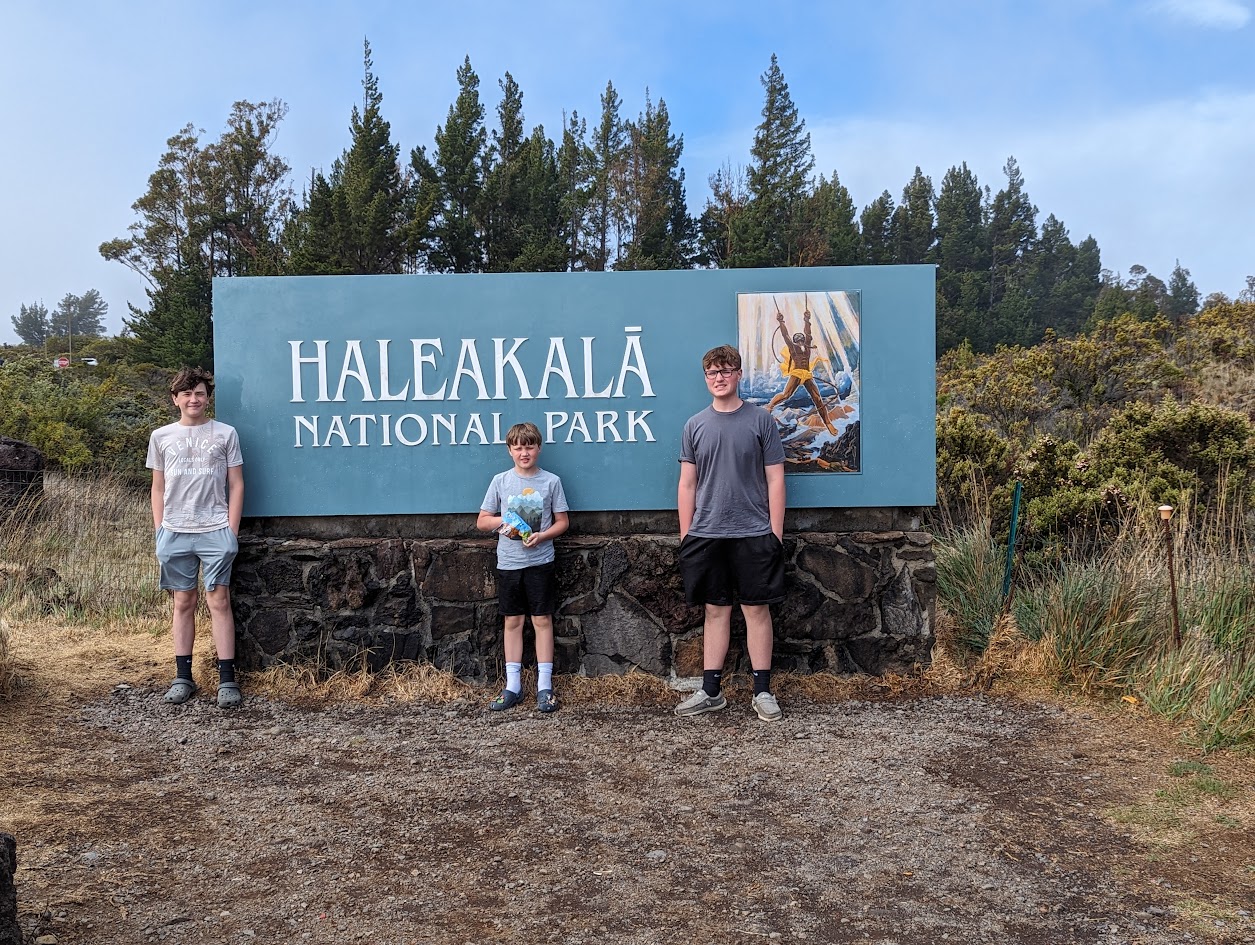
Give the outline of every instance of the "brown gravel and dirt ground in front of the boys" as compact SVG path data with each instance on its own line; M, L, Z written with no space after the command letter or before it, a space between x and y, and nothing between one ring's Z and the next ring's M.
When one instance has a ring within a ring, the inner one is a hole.
M782 699L767 724L747 702L28 705L0 738L21 922L93 945L1255 942L1241 759L1177 842L1113 817L1187 757L1119 713Z

